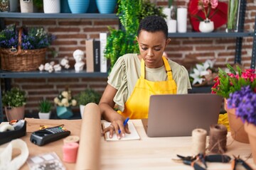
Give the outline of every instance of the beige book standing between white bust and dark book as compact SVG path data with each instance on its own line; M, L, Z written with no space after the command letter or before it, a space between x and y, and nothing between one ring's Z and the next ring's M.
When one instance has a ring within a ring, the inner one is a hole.
M94 72L94 61L93 61L93 39L85 41L86 45L86 72Z

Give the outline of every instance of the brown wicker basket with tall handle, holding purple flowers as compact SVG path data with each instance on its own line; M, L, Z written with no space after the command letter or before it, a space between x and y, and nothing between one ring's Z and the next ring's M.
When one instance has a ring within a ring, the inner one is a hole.
M23 28L18 30L18 50L0 49L1 69L11 72L35 71L46 61L46 48L35 50L21 50L21 33Z

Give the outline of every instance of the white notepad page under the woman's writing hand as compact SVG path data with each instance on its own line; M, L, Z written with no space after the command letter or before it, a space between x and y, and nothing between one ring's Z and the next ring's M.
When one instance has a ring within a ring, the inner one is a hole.
M111 123L109 122L103 122L103 128L107 128L110 126ZM120 140L139 140L139 134L136 130L136 128L134 127L134 124L132 123L132 121L129 121L128 123L128 128L129 131L131 132L130 134L125 133L125 137L122 137ZM106 133L106 139L107 141L117 141L117 135L114 133L112 138L110 138L110 132Z

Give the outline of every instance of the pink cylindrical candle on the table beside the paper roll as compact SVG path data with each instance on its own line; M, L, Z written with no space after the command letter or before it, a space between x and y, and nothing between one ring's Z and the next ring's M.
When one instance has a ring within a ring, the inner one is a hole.
M78 143L66 143L63 145L63 162L75 163L78 155Z

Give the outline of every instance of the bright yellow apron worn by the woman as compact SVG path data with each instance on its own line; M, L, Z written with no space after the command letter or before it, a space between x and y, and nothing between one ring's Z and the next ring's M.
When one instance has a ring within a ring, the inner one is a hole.
M142 119L148 118L149 97L152 94L176 94L177 86L172 79L171 67L169 62L163 57L164 66L167 72L167 81L148 81L145 79L145 62L141 62L141 76L139 77L134 91L124 104L124 111L120 113L124 118Z

